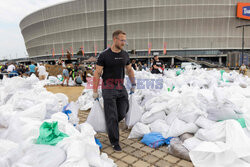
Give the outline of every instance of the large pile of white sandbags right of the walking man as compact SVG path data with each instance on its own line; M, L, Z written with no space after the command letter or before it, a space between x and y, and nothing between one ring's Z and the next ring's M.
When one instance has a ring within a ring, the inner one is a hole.
M179 75L176 70L164 75L142 71L136 72L136 78L142 88L134 94L141 106L137 112L143 114L132 114L139 121L129 138L142 138L150 132L159 132L166 139L175 137L169 143L169 153L196 166L250 165L248 77L234 71L197 69ZM155 81L153 88L149 80ZM157 89L160 80L161 89ZM186 134L190 135L183 137Z

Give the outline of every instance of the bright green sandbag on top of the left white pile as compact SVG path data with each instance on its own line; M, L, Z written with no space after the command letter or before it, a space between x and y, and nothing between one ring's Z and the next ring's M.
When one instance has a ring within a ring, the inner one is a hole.
M40 127L40 135L36 141L36 144L56 145L59 141L65 137L69 137L67 134L62 133L58 129L58 122L44 122Z

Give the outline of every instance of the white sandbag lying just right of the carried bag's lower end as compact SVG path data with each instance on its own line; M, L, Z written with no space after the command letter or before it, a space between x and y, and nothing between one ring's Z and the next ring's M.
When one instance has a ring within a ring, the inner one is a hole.
M150 113L145 112L141 117L141 122L144 124L150 124L154 122L157 119L166 119L166 114L164 111L156 112L156 113Z

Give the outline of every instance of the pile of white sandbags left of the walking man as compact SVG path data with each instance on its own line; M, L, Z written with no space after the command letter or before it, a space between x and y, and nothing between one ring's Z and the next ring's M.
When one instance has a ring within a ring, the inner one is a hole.
M78 124L78 104L43 86L44 82L35 76L5 78L1 82L0 166L116 166L100 153L92 126ZM48 127L50 124L53 127ZM65 134L64 138L53 145L36 144L46 143L44 136L46 141L56 138L59 132Z

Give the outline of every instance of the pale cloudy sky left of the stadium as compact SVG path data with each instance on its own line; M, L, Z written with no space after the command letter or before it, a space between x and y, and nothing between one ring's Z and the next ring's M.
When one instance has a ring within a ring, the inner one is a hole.
M30 13L67 0L1 0L0 60L27 57L20 21Z

